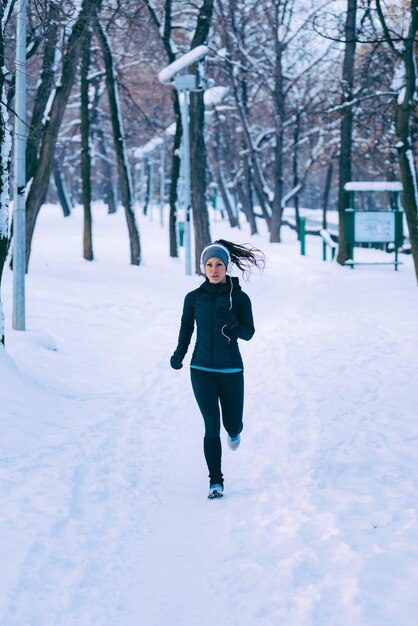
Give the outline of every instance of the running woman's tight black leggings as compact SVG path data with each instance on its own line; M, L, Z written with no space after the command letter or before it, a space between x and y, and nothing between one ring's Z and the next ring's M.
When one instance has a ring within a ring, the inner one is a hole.
M223 485L220 407L226 432L236 437L242 431L244 373L221 374L191 368L190 375L193 392L205 421L203 449L210 484Z

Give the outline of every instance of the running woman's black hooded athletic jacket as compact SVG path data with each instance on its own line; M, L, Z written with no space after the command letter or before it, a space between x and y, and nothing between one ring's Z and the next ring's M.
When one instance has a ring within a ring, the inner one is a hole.
M213 369L242 368L237 339L249 341L254 335L251 300L241 290L238 278L226 283L205 282L184 299L176 352L182 361L196 321L197 337L191 365ZM233 324L232 331L225 328ZM227 335L227 336L225 336Z

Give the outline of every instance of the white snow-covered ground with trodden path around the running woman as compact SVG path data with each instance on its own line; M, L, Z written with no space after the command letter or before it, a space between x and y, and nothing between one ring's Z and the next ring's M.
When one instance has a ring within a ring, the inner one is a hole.
M224 451L225 498L209 501L190 354L168 364L200 279L138 218L141 267L122 211L100 206L88 263L81 211L44 207L26 332L10 328L5 270L1 626L415 626L410 257L350 270L322 262L316 238L301 257L289 229L281 245L252 238L269 263L244 285L245 431Z

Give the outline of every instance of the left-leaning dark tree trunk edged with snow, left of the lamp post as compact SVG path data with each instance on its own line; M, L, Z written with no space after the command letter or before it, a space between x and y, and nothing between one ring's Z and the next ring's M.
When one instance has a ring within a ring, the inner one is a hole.
M126 151L125 133L122 125L118 85L116 82L116 71L113 63L109 39L99 20L96 21L96 31L100 41L100 47L102 49L103 59L105 63L106 87L109 97L113 135L115 138L115 152L118 163L119 184L122 204L125 209L126 223L129 232L131 265L140 265L141 244L139 240L138 227L135 220L134 195L132 189L128 155Z

